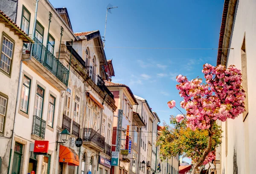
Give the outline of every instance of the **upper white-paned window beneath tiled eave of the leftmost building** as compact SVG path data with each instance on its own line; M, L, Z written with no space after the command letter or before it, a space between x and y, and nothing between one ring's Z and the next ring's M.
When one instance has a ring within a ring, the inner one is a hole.
M6 36L3 36L0 69L2 69L7 74L10 74L11 70L13 47L14 43L6 38Z

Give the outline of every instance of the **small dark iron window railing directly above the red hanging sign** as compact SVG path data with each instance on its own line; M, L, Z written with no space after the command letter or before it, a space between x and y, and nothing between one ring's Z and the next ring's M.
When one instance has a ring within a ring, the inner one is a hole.
M46 121L39 116L33 116L32 134L44 139Z

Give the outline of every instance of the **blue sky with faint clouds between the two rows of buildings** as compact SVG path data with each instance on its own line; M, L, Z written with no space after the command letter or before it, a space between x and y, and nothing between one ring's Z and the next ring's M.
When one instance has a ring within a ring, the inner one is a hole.
M146 99L158 116L169 122L167 102L182 99L175 88L177 75L200 76L205 63L216 64L224 0L50 0L66 7L74 32L100 30L104 35L108 3L118 6L108 14L105 52L113 59L113 82L127 84ZM179 105L179 104L178 104Z

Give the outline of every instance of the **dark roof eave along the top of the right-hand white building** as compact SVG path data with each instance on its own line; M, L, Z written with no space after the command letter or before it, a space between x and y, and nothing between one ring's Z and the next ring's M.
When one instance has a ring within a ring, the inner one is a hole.
M220 64L226 65L227 54L230 46L230 35L233 28L233 20L236 11L237 0L225 0L222 20L221 31L218 44L217 66Z

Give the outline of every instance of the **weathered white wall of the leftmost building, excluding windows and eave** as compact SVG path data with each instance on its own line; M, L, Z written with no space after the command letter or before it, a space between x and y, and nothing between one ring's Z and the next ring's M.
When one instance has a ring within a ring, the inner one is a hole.
M11 136L15 116L17 86L23 41L19 39L19 37L15 35L14 32L10 31L10 29L6 27L4 23L0 23L1 45L3 32L15 41L15 47L13 49L11 76L9 77L8 75L0 71L0 93L8 96L4 130L3 133L0 133L0 136L4 136L3 138L0 138L0 157L2 157L3 160L0 173L7 173L7 166L9 163L9 154L11 147Z

